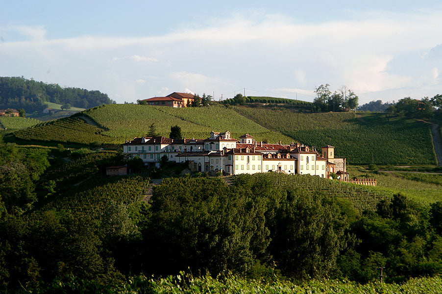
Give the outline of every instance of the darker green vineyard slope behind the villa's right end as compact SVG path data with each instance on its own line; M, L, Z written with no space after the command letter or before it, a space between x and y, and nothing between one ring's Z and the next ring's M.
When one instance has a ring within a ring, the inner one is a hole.
M390 122L381 113L295 113L257 108L235 110L296 141L321 147L333 145L337 157L350 164L436 164L430 124L404 118ZM277 119L276 119L277 118Z

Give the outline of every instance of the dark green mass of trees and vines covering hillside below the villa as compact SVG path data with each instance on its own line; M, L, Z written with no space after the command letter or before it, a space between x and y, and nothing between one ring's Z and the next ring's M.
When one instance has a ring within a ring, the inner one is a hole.
M442 202L272 172L230 186L200 173L167 178L147 204L146 176L102 175L126 160L0 144L0 291L154 293L163 282L145 277L184 279L182 271L281 285L372 283L380 267L387 282L442 272Z

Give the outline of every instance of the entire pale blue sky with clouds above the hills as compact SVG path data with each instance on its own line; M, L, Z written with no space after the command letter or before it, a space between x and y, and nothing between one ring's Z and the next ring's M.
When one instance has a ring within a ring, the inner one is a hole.
M360 105L442 94L436 0L2 2L0 76L117 103L172 92L312 101L321 84Z

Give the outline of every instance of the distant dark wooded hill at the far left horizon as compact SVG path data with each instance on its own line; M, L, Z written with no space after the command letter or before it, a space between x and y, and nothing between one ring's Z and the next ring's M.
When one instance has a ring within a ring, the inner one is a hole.
M24 108L27 113L41 111L45 102L90 108L111 104L107 94L80 88L62 88L22 77L0 77L0 109Z

